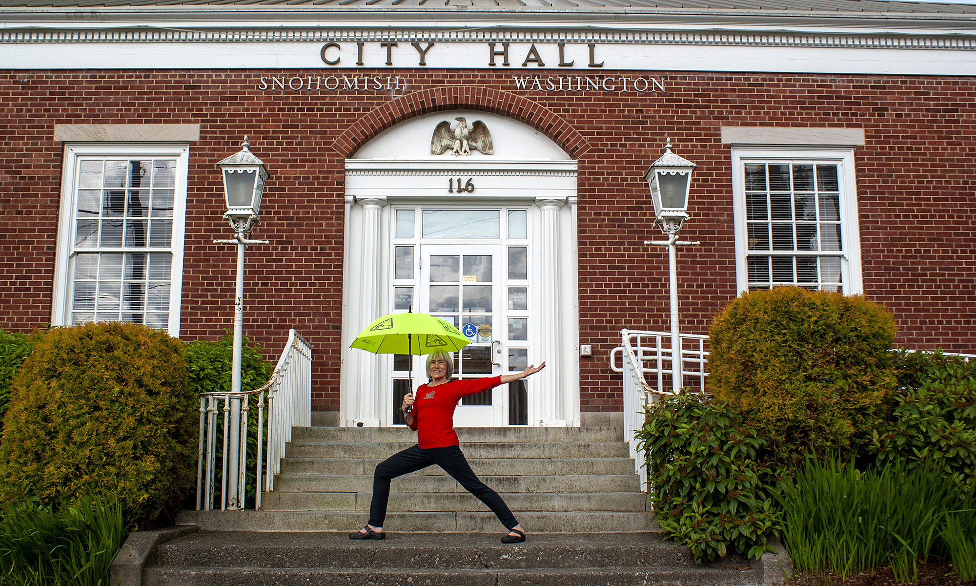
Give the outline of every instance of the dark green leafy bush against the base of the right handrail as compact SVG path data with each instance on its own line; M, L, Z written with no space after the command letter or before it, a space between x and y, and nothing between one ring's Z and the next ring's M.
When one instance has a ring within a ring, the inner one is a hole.
M725 557L729 546L758 559L780 519L773 477L757 461L765 440L724 404L695 395L667 398L646 414L637 437L662 532L687 545L699 564Z

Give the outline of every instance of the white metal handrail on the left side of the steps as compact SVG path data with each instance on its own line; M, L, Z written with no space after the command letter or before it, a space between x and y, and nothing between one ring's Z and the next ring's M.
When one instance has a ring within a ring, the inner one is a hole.
M258 437L256 442L257 467L255 470L255 508L261 509L263 489L274 487L274 476L281 470L281 457L285 444L292 439L292 426L311 425L311 346L294 329L290 330L288 343L271 378L260 389L243 393L200 394L200 442L197 451L196 509L210 511L214 508L214 481L217 464L217 413L224 412L224 431L230 429L230 401L241 401L240 450L238 458L237 502L243 508L245 478L247 475L247 418L251 398L258 400ZM267 400L265 404L265 398ZM222 406L223 401L223 406ZM265 409L266 406L266 409ZM267 413L267 443L264 444L264 414ZM227 434L224 433L221 464L221 510L227 506ZM264 448L264 449L263 449ZM266 454L264 469L263 451ZM232 457L232 455L230 456ZM264 472L264 485L262 473Z

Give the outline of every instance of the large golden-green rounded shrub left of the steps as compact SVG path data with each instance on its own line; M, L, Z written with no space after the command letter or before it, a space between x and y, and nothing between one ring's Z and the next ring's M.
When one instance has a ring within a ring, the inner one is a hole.
M178 340L132 323L53 329L14 378L0 497L91 491L128 525L170 524L195 481L196 415Z

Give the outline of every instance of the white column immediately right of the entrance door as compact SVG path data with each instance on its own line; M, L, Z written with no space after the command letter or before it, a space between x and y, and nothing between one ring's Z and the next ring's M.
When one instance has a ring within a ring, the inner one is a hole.
M559 291L559 260L562 242L559 239L559 209L565 205L565 199L544 198L536 199L540 209L539 222L539 259L538 267L530 267L538 279L540 303L533 311L535 319L539 320L540 332L533 344L533 356L537 362L546 360L546 369L534 375L529 382L529 405L534 407L530 411L530 423L534 425L564 426L566 416L563 414L562 389L560 385L562 356L559 341L564 332L561 327L562 303Z

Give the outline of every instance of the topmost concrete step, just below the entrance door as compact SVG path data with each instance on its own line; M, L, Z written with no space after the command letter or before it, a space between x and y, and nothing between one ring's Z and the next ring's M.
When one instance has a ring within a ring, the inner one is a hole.
M625 441L621 428L456 428L464 443L484 441ZM413 441L417 432L405 428L295 427L294 441Z

